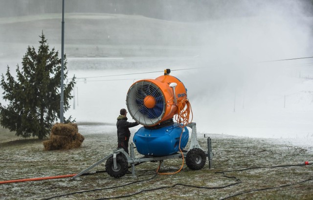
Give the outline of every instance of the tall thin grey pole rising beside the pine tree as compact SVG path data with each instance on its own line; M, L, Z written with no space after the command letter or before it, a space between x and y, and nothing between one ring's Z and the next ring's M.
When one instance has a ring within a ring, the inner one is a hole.
M60 100L60 123L64 122L64 0L62 0L62 44L61 44L61 100Z

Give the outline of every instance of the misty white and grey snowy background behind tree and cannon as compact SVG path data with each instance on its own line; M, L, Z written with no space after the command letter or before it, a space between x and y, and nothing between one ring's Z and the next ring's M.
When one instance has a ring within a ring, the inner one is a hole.
M1 74L38 49L42 31L61 53L62 0L0 5ZM67 69L78 78L65 117L114 124L133 82L170 68L199 133L312 145L312 44L312 0L65 0Z

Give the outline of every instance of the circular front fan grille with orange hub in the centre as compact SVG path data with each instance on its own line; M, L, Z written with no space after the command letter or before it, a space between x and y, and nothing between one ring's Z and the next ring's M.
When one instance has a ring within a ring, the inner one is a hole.
M159 123L166 108L160 88L146 80L137 81L132 85L127 93L126 104L133 119L144 126Z

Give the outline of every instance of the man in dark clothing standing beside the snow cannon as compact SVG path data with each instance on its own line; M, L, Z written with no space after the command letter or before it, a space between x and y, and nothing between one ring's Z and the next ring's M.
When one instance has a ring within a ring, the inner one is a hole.
M127 121L127 111L125 108L120 110L120 116L117 118L117 148L123 148L128 153L128 141L131 136L129 128L137 126L138 122ZM129 153L128 153L129 154Z

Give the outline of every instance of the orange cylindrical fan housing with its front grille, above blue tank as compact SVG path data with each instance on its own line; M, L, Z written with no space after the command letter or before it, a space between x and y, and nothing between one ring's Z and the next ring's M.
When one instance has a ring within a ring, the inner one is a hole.
M171 87L171 83L177 85ZM143 126L155 126L173 118L177 114L177 104L184 99L187 99L184 84L165 74L156 79L134 82L128 90L126 104L134 120Z

